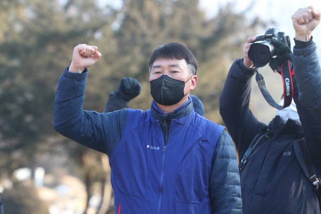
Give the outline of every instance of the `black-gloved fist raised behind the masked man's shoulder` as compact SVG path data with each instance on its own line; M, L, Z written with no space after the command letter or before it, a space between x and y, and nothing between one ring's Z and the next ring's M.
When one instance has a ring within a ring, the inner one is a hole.
M140 83L131 77L123 77L120 80L116 94L123 99L129 101L140 94L141 85Z

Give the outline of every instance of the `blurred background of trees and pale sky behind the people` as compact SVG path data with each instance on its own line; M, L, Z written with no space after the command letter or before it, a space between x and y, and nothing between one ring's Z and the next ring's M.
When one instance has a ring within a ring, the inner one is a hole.
M269 27L292 42L291 15L319 0L0 0L0 192L6 214L114 213L108 156L78 145L53 127L58 80L73 48L95 45L84 110L102 112L122 77L136 78L141 94L129 107L147 110L148 61L159 45L178 42L198 60L206 118L223 124L219 97L233 61L249 36ZM313 34L321 44L321 27ZM318 50L321 56L320 49ZM260 69L278 102L282 81ZM252 82L251 110L262 122L275 116Z

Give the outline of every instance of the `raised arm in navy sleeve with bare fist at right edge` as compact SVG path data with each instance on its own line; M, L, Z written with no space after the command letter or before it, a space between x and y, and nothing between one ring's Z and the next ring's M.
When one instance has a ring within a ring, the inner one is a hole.
M295 46L292 60L299 101L321 122L321 68L311 36L320 20L320 11L314 10L312 6L299 9L293 14Z

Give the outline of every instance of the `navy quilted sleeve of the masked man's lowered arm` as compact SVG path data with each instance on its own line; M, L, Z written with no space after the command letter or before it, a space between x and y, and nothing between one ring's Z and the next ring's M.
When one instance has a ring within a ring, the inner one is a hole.
M223 130L212 157L209 185L212 214L242 213L240 175L231 136Z

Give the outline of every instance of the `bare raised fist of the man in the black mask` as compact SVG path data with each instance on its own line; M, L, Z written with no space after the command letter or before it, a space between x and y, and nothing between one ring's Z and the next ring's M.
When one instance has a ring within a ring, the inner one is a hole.
M100 57L101 54L98 52L98 48L96 46L89 46L86 44L77 45L74 48L69 71L73 73L81 73L85 68L95 64Z

